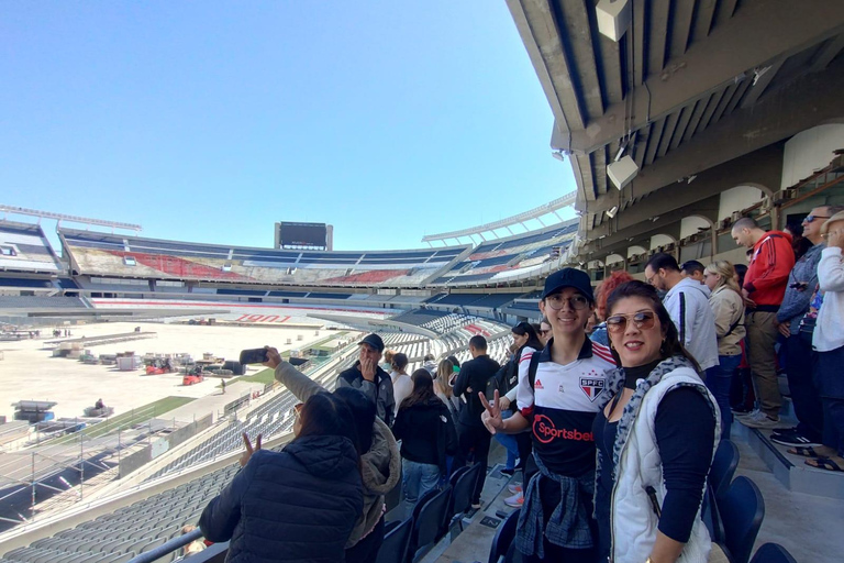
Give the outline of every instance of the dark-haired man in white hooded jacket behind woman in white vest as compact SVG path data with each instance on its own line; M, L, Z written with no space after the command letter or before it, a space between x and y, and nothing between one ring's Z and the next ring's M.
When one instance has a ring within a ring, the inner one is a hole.
M697 360L701 369L718 366L715 316L709 306L709 288L684 277L670 254L654 254L645 266L647 283L665 294L663 305L671 317L680 344Z

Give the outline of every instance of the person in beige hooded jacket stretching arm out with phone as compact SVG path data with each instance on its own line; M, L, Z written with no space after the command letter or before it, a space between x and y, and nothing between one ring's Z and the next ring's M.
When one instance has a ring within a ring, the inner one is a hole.
M275 369L276 380L307 402L326 389L285 362L278 350L267 346L265 366ZM364 509L346 543L346 563L375 561L384 541L384 497L399 483L401 456L390 428L376 417L375 404L353 387L340 387L333 395L352 410L360 441L360 474L364 479Z

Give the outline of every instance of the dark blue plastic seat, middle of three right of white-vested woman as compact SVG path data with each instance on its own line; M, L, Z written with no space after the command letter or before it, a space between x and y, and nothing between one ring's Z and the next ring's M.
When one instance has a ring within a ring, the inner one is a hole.
M718 503L724 522L724 545L732 563L748 563L753 543L765 518L765 500L754 482L736 477Z

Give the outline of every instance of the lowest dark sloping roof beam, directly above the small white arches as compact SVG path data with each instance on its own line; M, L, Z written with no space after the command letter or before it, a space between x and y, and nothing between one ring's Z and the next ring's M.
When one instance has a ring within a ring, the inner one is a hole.
M613 220L604 221L589 231L587 236L595 240L619 234L626 239L646 228L653 218L669 217L678 208L692 208L692 212L687 216L703 214L693 210L698 202L713 196L720 198L722 192L737 186L753 186L767 195L773 194L779 189L781 181L784 154L784 144L776 143L704 170L690 184L675 184L665 188L664 192L653 194L638 205L620 211ZM710 219L717 221L718 217Z

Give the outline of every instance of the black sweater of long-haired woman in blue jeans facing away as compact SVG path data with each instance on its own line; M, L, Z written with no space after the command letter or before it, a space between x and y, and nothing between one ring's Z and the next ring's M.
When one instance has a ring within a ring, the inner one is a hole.
M457 432L448 407L433 399L400 409L392 426L396 440L401 440L401 456L427 463L445 472L445 456L457 451Z

